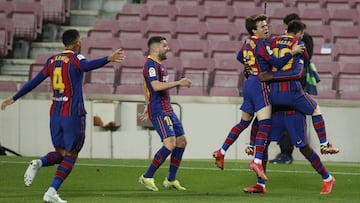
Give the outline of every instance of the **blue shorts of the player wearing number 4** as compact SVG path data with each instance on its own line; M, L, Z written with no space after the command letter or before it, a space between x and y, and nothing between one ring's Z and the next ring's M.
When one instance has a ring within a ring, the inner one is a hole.
M80 152L85 141L84 116L50 116L51 140L54 148Z

